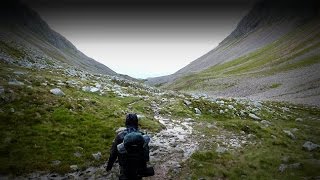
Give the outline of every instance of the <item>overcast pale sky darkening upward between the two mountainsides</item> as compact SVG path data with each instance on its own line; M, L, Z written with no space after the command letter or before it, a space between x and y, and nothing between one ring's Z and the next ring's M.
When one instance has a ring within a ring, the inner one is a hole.
M204 55L252 6L252 0L25 2L87 56L135 78L172 74Z

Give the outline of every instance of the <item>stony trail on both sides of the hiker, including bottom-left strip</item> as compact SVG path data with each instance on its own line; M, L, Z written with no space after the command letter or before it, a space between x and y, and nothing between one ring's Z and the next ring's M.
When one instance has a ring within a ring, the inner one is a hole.
M146 180L172 179L180 171L180 163L185 161L197 150L198 143L192 138L194 124L192 119L175 120L162 117L159 114L159 104L152 102L151 108L154 118L165 126L163 130L154 135L150 134L150 162L149 166L155 169L155 175L144 178ZM23 177L0 177L0 179L110 179L117 180L119 165L115 163L110 172L105 170L106 164L99 167L89 167L83 171L60 175L56 173L34 172Z

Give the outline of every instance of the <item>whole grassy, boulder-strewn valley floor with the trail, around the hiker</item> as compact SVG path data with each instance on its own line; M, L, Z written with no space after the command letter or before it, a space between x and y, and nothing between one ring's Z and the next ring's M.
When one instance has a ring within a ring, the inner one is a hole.
M104 166L128 112L152 139L156 175L145 179L320 177L318 107L181 94L68 69L2 64L0 72L0 179L117 179L117 165Z

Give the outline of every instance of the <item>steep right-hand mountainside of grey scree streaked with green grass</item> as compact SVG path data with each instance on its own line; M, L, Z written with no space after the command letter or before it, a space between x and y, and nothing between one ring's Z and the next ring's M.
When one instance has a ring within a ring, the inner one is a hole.
M260 2L217 48L149 82L212 96L319 105L318 10L313 1Z

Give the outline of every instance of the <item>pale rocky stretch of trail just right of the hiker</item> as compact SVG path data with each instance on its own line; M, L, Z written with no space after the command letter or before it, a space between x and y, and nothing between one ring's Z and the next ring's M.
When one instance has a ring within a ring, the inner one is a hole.
M198 143L193 141L192 119L183 122L159 115L159 105L151 104L154 118L166 128L152 136L150 143L150 164L154 165L155 176L145 179L170 179L171 174L180 171L180 163L185 161L197 149Z

